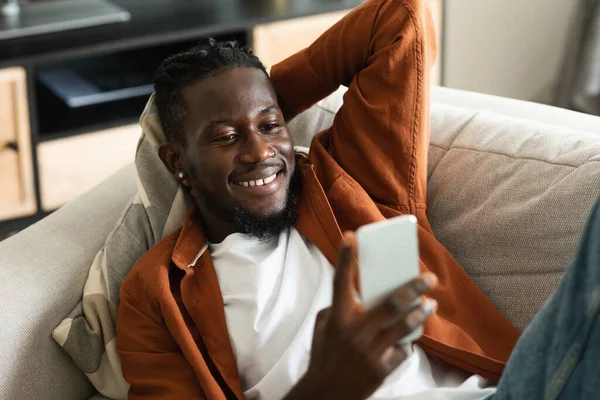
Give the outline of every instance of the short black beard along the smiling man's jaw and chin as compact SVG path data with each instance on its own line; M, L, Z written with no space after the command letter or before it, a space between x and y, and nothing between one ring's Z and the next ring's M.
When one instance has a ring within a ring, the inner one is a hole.
M240 230L248 235L254 236L260 240L271 239L279 236L284 230L294 225L298 217L298 203L296 195L300 192L302 180L300 179L299 168L294 168L294 173L290 180L290 185L287 190L287 198L284 207L271 215L259 215L252 213L246 208L236 204L230 211L233 216L233 221ZM188 173L192 182L193 192L196 192L199 197L210 201L211 208L220 209L216 199L204 189L193 171ZM221 211L224 211L221 209Z

